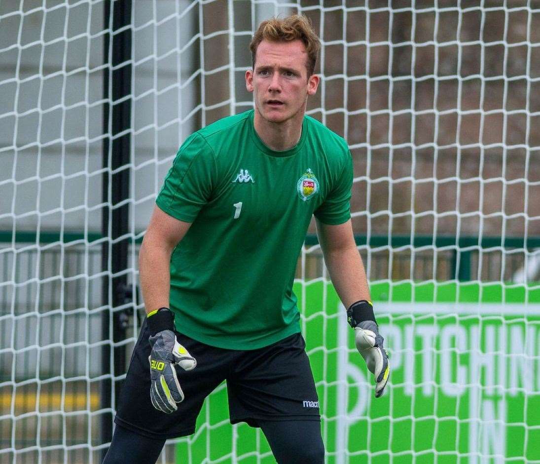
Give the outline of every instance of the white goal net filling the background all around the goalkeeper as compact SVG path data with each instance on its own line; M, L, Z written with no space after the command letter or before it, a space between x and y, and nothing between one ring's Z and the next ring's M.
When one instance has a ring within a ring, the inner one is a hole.
M253 31L295 11L322 40L308 114L352 152L392 365L375 399L312 224L295 291L327 462L540 462L540 4L525 0L0 2L0 462L102 460L161 182L192 131L253 107ZM226 404L222 385L159 462L274 462Z

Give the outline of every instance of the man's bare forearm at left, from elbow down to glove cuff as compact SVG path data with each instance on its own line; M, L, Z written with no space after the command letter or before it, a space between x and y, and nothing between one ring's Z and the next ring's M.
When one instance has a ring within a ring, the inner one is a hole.
M146 312L169 306L171 251L144 243L139 253L139 280Z

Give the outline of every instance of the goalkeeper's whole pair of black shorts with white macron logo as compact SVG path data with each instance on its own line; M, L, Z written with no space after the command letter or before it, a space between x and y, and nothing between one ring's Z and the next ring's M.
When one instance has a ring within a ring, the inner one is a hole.
M232 350L209 346L176 333L197 360L186 372L175 366L185 399L165 414L150 401L150 336L146 320L133 349L120 392L114 422L150 438L176 438L195 433L195 421L205 398L227 382L231 423L258 420L320 421L319 401L302 334L293 334L267 347Z

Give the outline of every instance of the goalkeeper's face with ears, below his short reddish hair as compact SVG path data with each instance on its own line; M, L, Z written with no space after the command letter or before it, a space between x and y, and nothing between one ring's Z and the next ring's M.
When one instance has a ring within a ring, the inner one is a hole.
M255 109L268 122L303 117L308 95L314 95L319 77L308 79L306 47L293 42L262 41L255 55L255 69L246 71L246 88L254 92Z

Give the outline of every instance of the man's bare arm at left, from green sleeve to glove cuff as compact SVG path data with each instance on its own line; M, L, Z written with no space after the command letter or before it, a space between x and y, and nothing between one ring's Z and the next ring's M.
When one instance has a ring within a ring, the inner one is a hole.
M146 313L168 308L171 254L191 222L179 221L154 207L139 251L139 280Z

